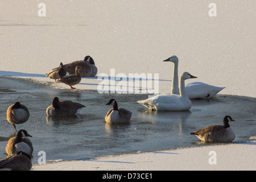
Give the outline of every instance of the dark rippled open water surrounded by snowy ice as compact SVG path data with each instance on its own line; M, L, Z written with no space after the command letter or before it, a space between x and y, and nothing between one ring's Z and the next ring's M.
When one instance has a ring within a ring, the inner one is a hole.
M5 147L16 133L6 120L7 108L19 101L30 110L30 118L17 130L25 129L32 135L34 146L32 163L38 162L38 152L45 151L47 160L87 159L93 156L145 152L170 148L201 146L192 131L208 125L222 125L230 115L236 139L243 142L256 134L255 99L218 95L211 100L193 100L189 111L148 111L136 101L146 94L99 94L86 90L53 89L51 82L0 77L0 159L5 158ZM47 117L46 109L54 97L86 105L79 115ZM108 125L105 114L111 106L105 104L115 98L119 107L133 115L129 124Z

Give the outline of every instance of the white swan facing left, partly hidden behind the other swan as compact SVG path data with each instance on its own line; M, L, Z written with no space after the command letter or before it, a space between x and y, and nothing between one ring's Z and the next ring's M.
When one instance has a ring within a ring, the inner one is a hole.
M170 61L170 62L174 63L174 76L172 78L171 93L179 94L179 84L178 84L179 78L178 78L178 71L177 71L179 59L177 58L177 56L171 56L164 61ZM187 91L188 97L190 99L212 98L224 88L225 87L208 85L203 82L192 82L185 86L185 90Z

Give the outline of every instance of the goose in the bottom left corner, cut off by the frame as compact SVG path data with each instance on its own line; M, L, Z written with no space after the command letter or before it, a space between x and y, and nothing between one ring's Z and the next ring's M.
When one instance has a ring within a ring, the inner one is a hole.
M23 151L0 160L0 171L8 169L11 171L30 171L31 168L31 156Z

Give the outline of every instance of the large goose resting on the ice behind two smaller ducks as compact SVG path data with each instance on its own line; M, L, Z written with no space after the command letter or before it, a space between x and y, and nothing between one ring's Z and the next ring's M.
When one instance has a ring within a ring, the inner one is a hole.
M82 68L80 71L81 77L96 76L98 71L94 60L90 56L85 56L84 60L73 61L72 63L64 64L63 67L69 73L69 75L74 75L77 66Z

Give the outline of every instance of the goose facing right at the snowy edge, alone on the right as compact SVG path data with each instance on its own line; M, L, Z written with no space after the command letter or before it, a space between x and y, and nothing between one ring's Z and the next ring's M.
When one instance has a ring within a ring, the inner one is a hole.
M234 121L229 115L226 115L222 125L211 125L191 133L196 135L202 141L207 142L232 142L236 135L229 126L229 122Z

